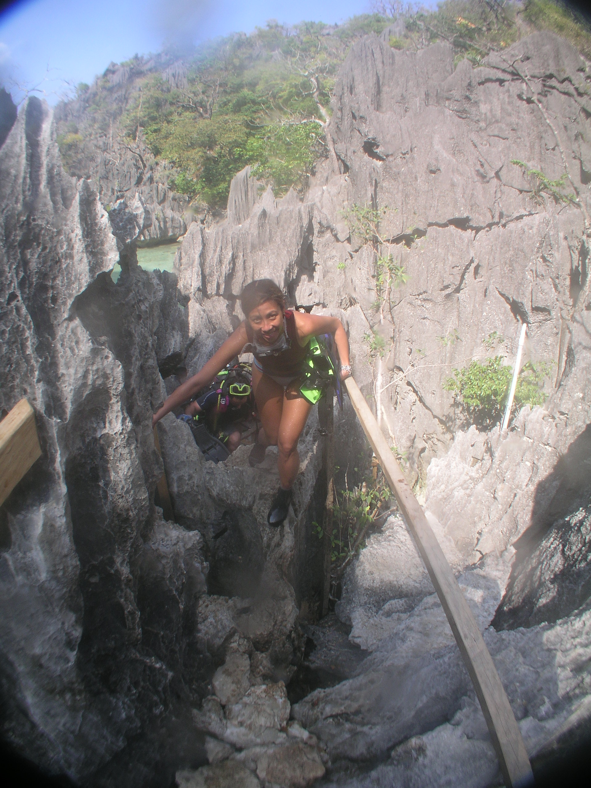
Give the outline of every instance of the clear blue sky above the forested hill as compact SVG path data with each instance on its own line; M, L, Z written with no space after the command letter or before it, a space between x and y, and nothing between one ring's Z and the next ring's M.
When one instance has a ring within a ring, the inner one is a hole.
M24 0L0 16L0 82L15 98L20 84L54 103L110 61L157 52L165 41L251 32L273 18L333 24L371 8L371 0Z

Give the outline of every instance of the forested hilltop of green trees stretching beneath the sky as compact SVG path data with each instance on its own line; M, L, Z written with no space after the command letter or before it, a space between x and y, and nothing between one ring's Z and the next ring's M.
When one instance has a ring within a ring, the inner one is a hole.
M587 20L555 0L446 0L437 11L403 11L380 3L376 13L344 25L269 21L190 52L168 50L111 64L92 86L80 84L58 143L70 173L87 177L99 139L145 158L159 178L195 203L223 207L232 177L245 165L276 194L300 191L314 162L329 154L325 132L336 72L351 44L374 32L396 50L447 41L456 61L479 65L522 35L547 29L591 58ZM104 146L103 146L104 147Z

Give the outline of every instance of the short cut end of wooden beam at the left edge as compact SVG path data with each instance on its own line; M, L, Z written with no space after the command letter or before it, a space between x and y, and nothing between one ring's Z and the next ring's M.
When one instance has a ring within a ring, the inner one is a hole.
M0 505L40 456L35 411L20 400L0 422Z

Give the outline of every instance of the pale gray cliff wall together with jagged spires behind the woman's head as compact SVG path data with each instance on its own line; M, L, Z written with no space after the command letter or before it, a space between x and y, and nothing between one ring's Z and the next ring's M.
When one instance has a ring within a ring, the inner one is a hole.
M269 191L255 200L247 171L236 177L232 218L193 225L178 253L191 335L210 334L212 323L229 329L242 317L236 296L255 277L275 278L292 303L340 307L347 318L357 310L356 377L366 393L373 389L412 481L420 476L424 485L430 459L452 440L452 395L443 383L454 367L496 354L512 363L522 320L524 362L553 360L556 381L586 353L578 325L588 299L591 106L577 93L585 69L571 46L547 33L478 69L462 61L454 70L444 44L413 54L372 36L355 43L330 121L343 173L321 165L303 203L291 193L275 203ZM548 113L572 118L563 131L554 125L558 139ZM567 172L563 193L574 189L578 202L556 203L511 160L551 180ZM391 254L408 277L381 311L378 251L351 231L355 206L370 205L379 211L379 254ZM370 359L372 332L384 341L384 359ZM489 349L493 332L504 342Z

